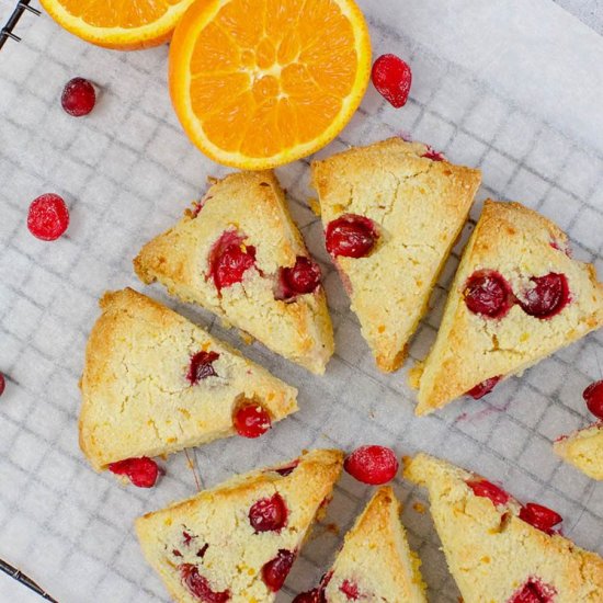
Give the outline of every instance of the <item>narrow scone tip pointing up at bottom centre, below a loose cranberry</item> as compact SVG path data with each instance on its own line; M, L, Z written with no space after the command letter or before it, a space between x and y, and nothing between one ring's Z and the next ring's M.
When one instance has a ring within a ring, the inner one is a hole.
M326 600L425 603L420 565L400 523L400 503L386 486L345 535L325 588Z

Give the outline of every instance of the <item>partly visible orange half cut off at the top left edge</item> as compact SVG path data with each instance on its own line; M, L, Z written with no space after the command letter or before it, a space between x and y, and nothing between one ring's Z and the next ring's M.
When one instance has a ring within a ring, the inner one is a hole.
M193 0L41 0L68 32L105 48L136 50L168 42Z

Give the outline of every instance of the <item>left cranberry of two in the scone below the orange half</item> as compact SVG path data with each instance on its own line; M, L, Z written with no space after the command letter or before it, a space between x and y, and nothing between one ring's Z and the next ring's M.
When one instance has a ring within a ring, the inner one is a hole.
M226 230L209 252L209 276L218 292L243 280L243 274L255 264L255 248L243 244L244 236Z

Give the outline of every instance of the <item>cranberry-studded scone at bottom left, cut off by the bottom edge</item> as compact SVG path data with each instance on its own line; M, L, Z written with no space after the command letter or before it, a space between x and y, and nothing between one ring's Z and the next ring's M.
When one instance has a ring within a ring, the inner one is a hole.
M312 451L148 513L136 521L145 557L174 601L273 601L342 462L340 451Z

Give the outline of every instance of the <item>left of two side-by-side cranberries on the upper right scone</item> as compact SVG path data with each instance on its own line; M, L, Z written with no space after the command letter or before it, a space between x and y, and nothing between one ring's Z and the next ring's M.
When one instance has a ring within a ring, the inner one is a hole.
M478 270L465 285L465 304L474 314L502 318L511 308L513 293L504 277L493 270Z

